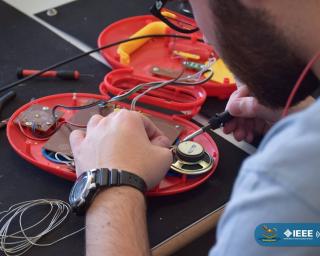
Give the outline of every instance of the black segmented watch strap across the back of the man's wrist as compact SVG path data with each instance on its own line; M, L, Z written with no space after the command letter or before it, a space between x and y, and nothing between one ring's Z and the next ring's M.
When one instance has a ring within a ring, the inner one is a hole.
M138 189L143 194L147 191L145 181L138 175L118 170L101 168L96 172L96 184L98 187L113 187L113 186L130 186Z

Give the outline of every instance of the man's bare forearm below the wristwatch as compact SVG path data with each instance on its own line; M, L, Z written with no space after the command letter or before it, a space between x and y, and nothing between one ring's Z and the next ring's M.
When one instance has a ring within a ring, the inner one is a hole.
M100 192L86 216L86 253L150 255L146 205L141 192L114 187Z

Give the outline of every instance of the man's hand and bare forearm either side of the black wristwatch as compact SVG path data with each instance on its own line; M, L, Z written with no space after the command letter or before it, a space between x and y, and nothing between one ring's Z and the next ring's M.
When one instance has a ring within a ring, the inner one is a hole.
M145 116L120 110L93 116L86 134L70 135L77 175L117 168L156 186L172 162L169 140ZM137 232L138 231L138 232ZM131 187L101 191L86 213L86 255L150 255L144 196Z

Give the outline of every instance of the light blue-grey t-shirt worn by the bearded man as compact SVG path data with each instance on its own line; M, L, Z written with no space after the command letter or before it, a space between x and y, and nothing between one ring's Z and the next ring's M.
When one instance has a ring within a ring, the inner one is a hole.
M265 247L262 223L320 223L320 100L278 122L243 164L210 256L320 255L320 247Z

